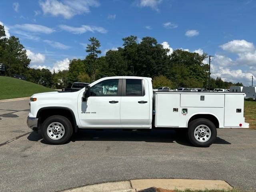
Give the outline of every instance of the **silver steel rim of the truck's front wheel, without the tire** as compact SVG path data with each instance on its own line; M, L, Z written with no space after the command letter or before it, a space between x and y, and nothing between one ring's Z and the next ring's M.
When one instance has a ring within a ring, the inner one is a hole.
M65 134L64 126L59 122L52 122L47 127L47 134L53 140L58 140L62 138Z

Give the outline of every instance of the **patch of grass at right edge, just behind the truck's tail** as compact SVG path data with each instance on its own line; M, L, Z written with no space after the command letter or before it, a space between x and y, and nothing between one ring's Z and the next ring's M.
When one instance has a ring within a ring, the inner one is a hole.
M256 129L256 101L244 101L244 117L250 129Z

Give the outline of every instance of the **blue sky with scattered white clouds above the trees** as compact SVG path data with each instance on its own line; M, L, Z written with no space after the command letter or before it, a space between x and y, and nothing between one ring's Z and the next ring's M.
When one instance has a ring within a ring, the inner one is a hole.
M256 75L254 0L8 0L0 24L20 38L30 67L64 70L86 56L88 38L102 55L122 38L152 36L165 48L214 55L212 77L250 85Z

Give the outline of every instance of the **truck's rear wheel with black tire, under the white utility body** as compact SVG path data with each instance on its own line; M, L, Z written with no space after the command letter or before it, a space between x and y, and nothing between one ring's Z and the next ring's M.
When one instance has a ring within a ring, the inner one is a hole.
M216 126L208 119L200 118L188 124L188 138L194 146L208 147L216 136Z

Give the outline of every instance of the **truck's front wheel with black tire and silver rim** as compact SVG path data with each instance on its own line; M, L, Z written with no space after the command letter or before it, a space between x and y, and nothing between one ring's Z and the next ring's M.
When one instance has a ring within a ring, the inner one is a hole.
M42 124L42 137L49 144L64 144L72 134L72 124L64 116L50 116Z

